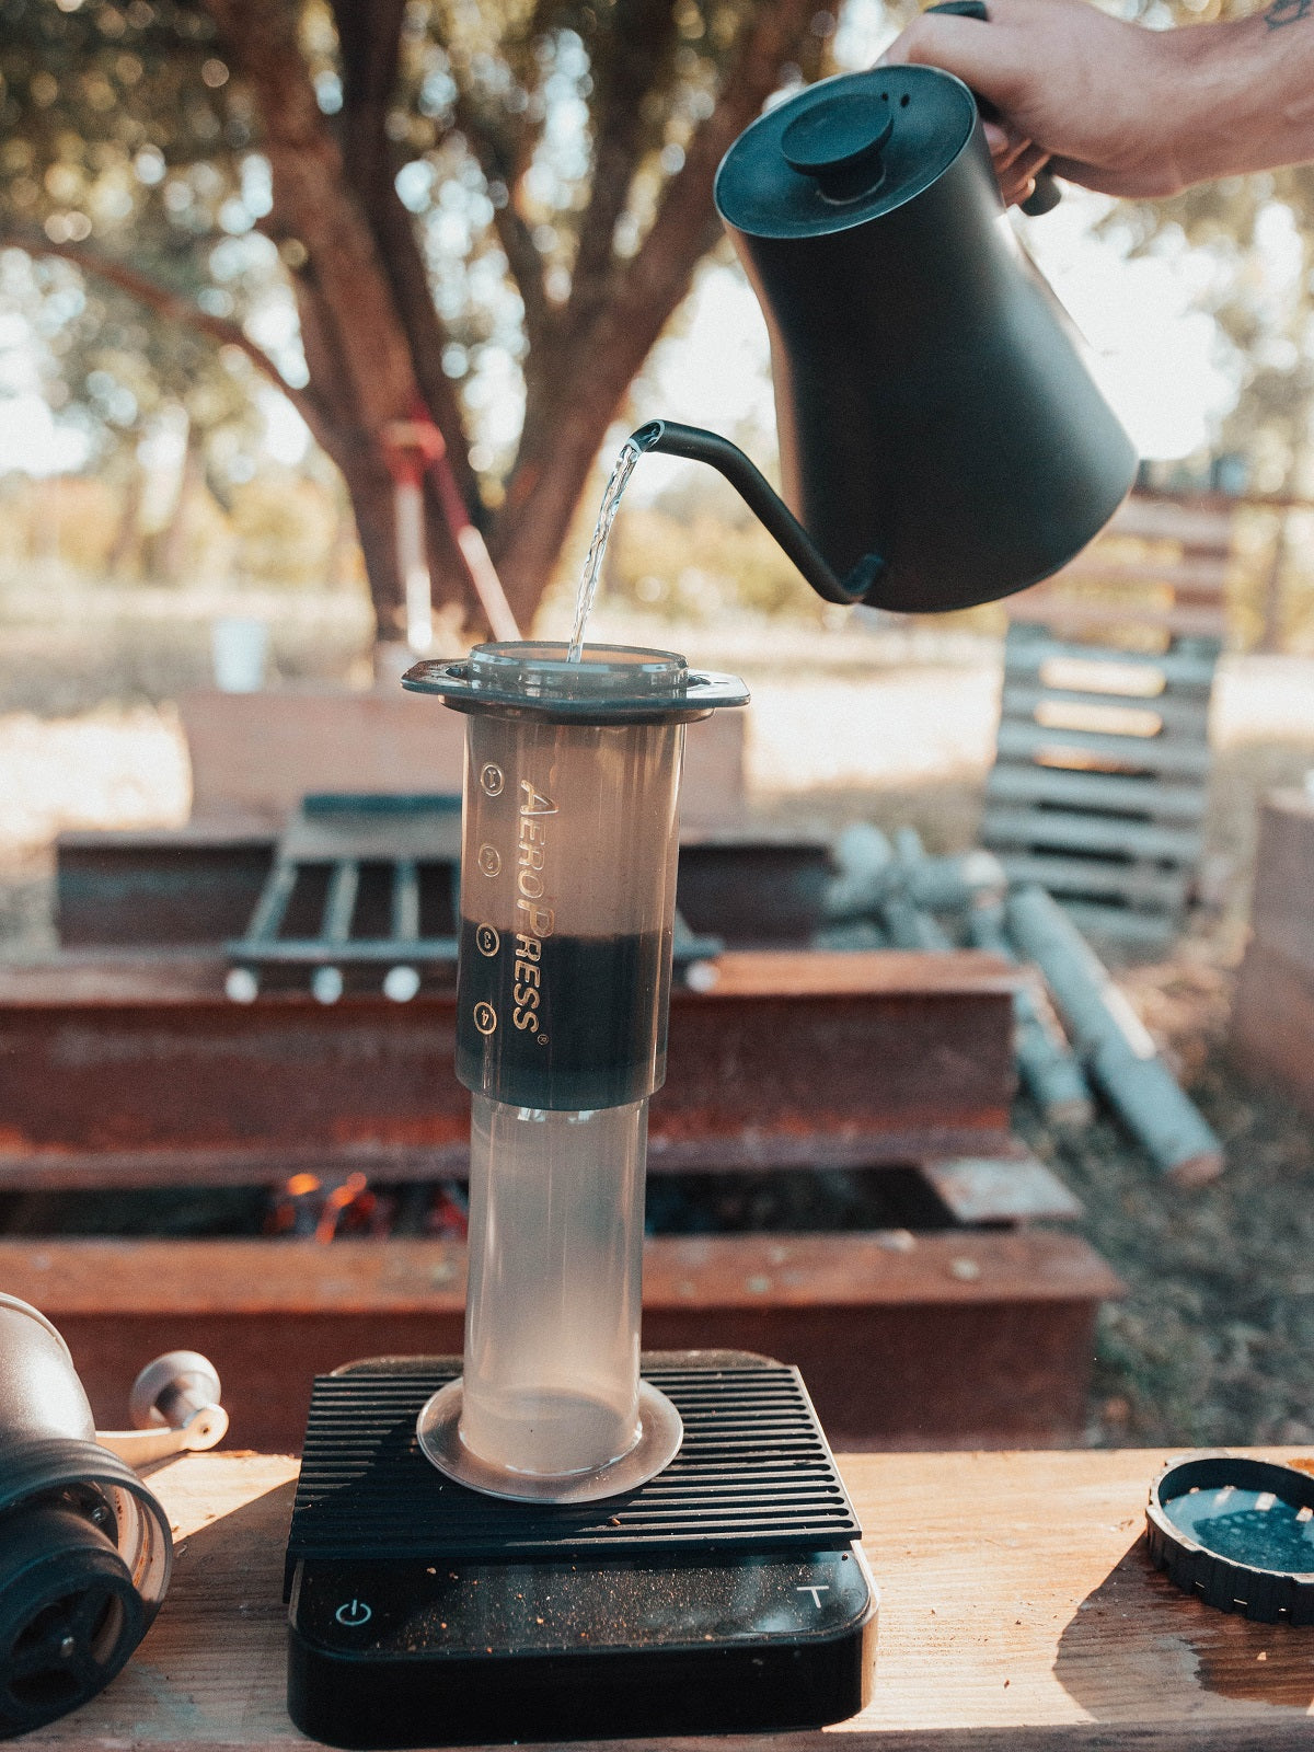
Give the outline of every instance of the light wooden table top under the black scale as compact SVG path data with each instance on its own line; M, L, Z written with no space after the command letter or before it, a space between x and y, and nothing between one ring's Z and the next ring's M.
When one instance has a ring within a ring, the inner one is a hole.
M1314 1459L1289 1451L1272 1458ZM857 1454L841 1470L881 1587L876 1691L839 1727L704 1752L1284 1752L1314 1747L1314 1628L1247 1624L1146 1558L1163 1451ZM272 1752L296 1461L193 1454L152 1475L175 1526L165 1607L126 1671L28 1747ZM659 1741L627 1741L655 1747Z

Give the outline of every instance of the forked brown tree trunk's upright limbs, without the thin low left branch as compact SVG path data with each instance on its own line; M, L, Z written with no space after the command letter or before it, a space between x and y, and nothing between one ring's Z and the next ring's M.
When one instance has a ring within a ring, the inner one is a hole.
M405 0L335 0L343 107L331 128L315 102L289 0L207 0L224 51L261 114L273 208L263 230L296 289L315 436L342 470L356 510L382 638L405 624L385 464L391 422L427 413L447 443L475 524L484 527L512 608L527 627L547 589L594 457L631 380L718 237L711 182L731 140L757 116L783 63L804 54L815 0L748 9L720 100L666 182L655 221L631 258L613 237L634 173L639 105L675 42L669 0L622 0L625 53L608 70L594 117L596 173L569 298L554 305L543 263L513 201L499 235L526 305L527 406L503 506L485 513L470 466L457 394L442 370L445 333L415 223L396 193L398 147L387 119L398 79ZM506 117L461 116L491 175L508 172L496 128ZM527 168L524 152L520 170ZM513 177L513 172L508 172ZM434 601L480 608L433 491L429 568Z

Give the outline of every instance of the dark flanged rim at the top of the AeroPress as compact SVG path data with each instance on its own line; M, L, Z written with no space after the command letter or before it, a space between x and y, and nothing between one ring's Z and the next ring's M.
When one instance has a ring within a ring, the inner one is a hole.
M401 685L438 694L457 711L515 711L559 724L643 724L704 718L745 706L734 675L696 671L676 652L585 645L578 662L559 641L477 645L463 662L417 662Z

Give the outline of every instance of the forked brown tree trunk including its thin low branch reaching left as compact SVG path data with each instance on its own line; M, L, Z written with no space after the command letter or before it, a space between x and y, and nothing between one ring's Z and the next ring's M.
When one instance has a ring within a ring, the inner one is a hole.
M110 256L21 214L0 215L0 242L74 261L163 322L189 324L238 349L289 396L350 494L382 639L405 629L391 429L431 420L445 442L464 515L484 533L527 629L606 429L689 291L699 258L720 235L711 198L717 165L760 112L781 68L816 70L832 16L818 11L816 0L717 7L606 0L576 18L555 0L534 0L498 16L506 77L480 82L478 65L491 56L447 53L452 46L443 32L452 21L443 7L328 0L342 81L340 112L329 116L321 110L312 74L315 54L322 72L324 51L308 47L312 26L322 37L322 18L312 18L303 0L200 4L217 35L221 84L230 68L237 75L237 135L268 163L272 201L258 224L291 279L308 380L287 382L238 321L154 279L149 252ZM119 19L114 7L110 14ZM445 56L456 91L450 137L484 173L489 224L524 310L526 413L496 512L480 499L461 398L443 371L450 333L434 301L417 219L396 189L398 172L417 152L408 144L413 117L396 107L399 84L413 82L413 67L401 63L403 32L412 47L424 39ZM580 177L578 200L569 191L561 196L559 221L536 224L543 208L529 193L529 172L547 126L545 68L557 39L583 46L580 32L589 37L590 170ZM680 58L694 54L694 39L715 42L715 53L708 51L701 70L680 88L699 100L682 112L673 93L683 79ZM522 102L506 100L512 88ZM668 138L676 117L683 145ZM172 123L161 131L165 145L175 133ZM668 147L678 152L675 161ZM555 247L559 226L571 249ZM170 268L168 256L158 263ZM482 610L431 482L426 512L434 601L459 604L478 625Z

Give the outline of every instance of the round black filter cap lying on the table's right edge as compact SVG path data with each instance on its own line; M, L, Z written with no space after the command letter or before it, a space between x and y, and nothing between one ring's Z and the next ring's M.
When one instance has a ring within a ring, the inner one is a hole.
M1149 1556L1207 1607L1314 1624L1314 1477L1244 1454L1174 1461L1149 1486Z

